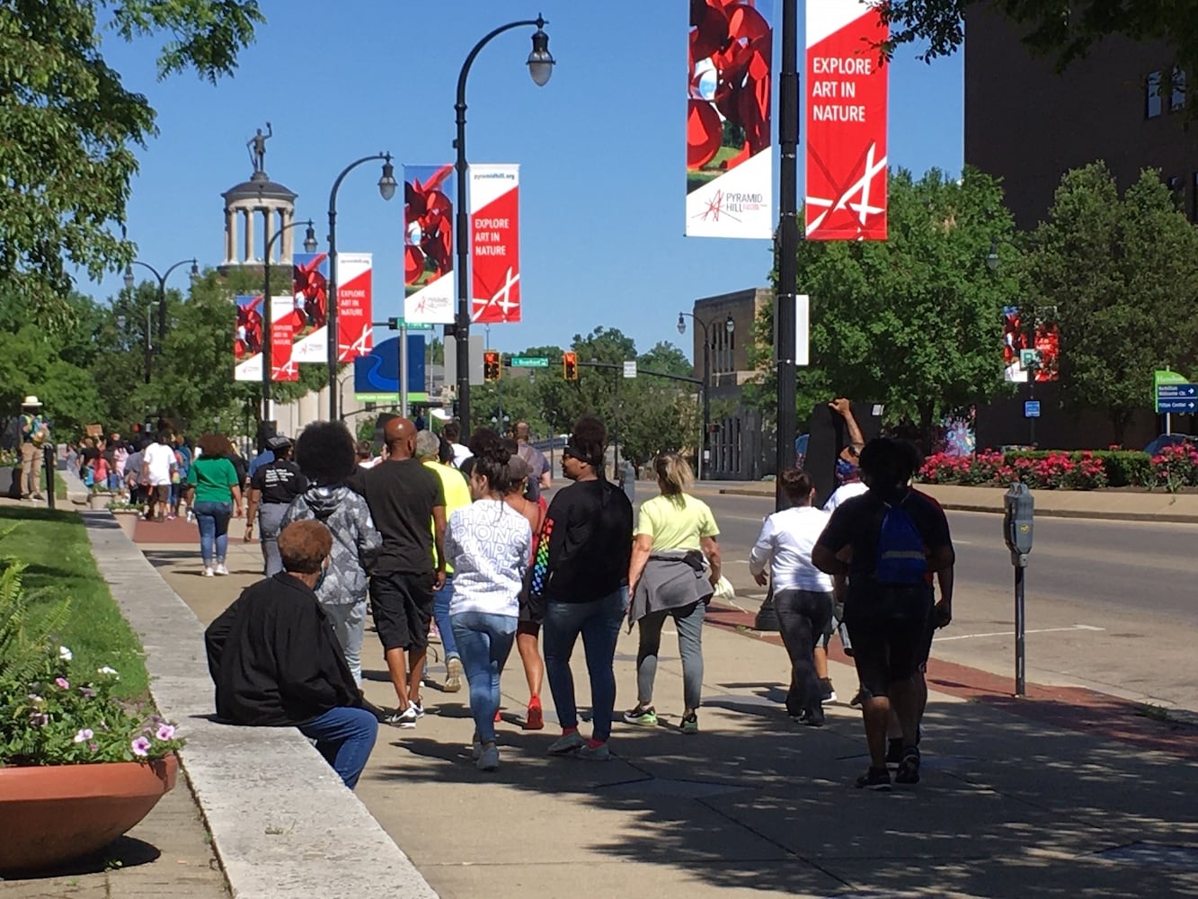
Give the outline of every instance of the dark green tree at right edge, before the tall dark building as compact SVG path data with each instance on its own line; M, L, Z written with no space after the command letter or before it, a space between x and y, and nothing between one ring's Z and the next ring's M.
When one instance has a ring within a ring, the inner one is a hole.
M1033 236L1028 284L1057 307L1066 400L1106 409L1119 442L1148 408L1152 369L1198 362L1198 230L1156 171L1121 199L1103 163L1067 171Z

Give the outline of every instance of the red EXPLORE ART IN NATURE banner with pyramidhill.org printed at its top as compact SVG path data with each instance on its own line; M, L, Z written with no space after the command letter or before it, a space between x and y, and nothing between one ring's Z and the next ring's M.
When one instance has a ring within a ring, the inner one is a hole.
M520 167L470 167L470 320L520 321Z

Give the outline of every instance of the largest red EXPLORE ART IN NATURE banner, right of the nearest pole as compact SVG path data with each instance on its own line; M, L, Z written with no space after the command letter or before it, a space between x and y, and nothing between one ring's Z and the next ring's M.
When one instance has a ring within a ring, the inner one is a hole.
M807 240L887 239L889 34L861 0L807 0Z

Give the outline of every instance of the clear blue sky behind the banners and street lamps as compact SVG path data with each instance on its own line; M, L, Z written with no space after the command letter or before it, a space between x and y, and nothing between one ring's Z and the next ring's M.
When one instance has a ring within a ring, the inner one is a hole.
M492 28L540 11L557 60L549 85L528 78L530 29L492 41L467 91L470 158L522 167L525 320L492 326L491 344L567 344L603 325L631 336L641 351L658 340L689 350L689 334L679 340L676 330L679 309L767 283L768 241L683 236L685 0L455 0L446 14L394 0L262 7L268 24L235 77L217 86L189 73L158 82L157 43L105 47L126 86L158 111L161 133L139 151L128 227L139 258L159 271L193 255L201 266L220 261L220 193L248 179L246 141L267 120L274 126L267 173L300 194L297 217L313 218L321 241L328 191L347 163L382 150L397 162L453 162L454 91L466 53ZM775 67L778 24L775 16ZM914 56L904 50L891 70L890 164L916 175L932 167L957 173L961 55L931 66ZM363 165L338 194L340 248L374 253L376 320L401 309L404 236L403 192L385 203L379 174ZM186 288L186 270L173 276L174 286ZM79 288L108 297L121 278Z

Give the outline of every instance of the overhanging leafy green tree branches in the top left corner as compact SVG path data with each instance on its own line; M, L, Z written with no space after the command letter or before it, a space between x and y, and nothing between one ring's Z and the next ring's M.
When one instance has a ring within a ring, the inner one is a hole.
M262 22L256 0L0 2L0 283L36 320L63 325L72 267L98 278L134 253L114 227L155 111L104 61L104 32L169 35L159 76L216 82Z

